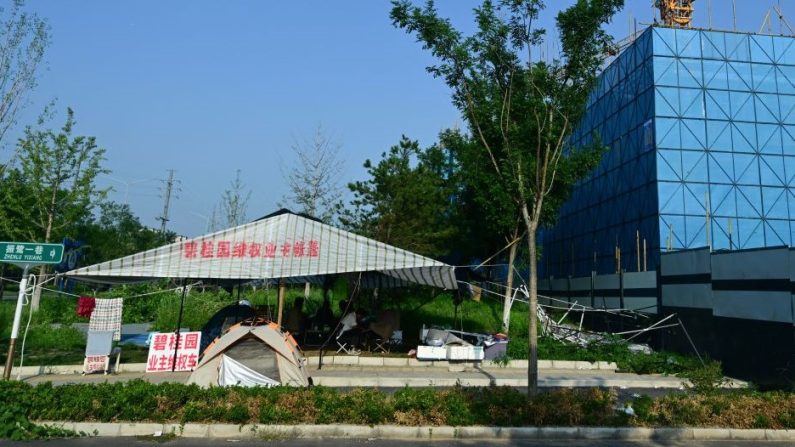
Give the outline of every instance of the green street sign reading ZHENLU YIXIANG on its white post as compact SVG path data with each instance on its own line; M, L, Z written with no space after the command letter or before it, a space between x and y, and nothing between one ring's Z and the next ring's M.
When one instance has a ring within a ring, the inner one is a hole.
M19 337L19 323L22 320L22 306L25 302L25 289L28 287L30 268L42 264L60 264L63 260L63 244L40 244L35 242L0 242L0 262L22 267L22 280L19 282L17 308L14 311L14 325L11 327L11 342L8 344L8 357L3 370L3 378L11 377L14 366L14 349Z

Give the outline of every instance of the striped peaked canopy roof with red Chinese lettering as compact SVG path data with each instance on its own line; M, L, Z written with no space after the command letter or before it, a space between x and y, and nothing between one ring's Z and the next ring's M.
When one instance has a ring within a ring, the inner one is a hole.
M454 268L291 212L175 242L65 275L119 283L156 278L316 282L359 274L380 286L457 288ZM314 280L314 281L313 281Z

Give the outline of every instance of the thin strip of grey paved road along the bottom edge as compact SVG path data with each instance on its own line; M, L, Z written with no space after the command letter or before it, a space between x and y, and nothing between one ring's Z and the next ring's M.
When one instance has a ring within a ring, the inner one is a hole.
M237 441L237 440L212 440L212 439L176 439L176 440L157 440L154 438L84 438L56 441L33 441L33 442L3 442L4 446L15 447L146 447L146 446L169 446L169 447L261 447L263 445L277 445L280 447L468 447L468 446L521 446L521 447L762 447L762 446L785 446L789 443L772 441L590 441L590 440L556 440L556 441L408 441L408 440L381 440L374 439L369 441L344 440L344 439L298 439L298 440L269 440L262 441Z

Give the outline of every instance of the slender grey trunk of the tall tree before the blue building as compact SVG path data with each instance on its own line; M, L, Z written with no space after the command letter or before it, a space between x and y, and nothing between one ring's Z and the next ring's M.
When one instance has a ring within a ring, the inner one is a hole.
M536 203L535 209L540 209L541 204ZM528 353L527 353L527 395L535 396L538 393L538 259L536 231L538 230L537 213L530 217L527 204L522 203L522 217L527 226L527 248L530 258L530 278L528 281L530 294L527 303L527 332L528 332Z

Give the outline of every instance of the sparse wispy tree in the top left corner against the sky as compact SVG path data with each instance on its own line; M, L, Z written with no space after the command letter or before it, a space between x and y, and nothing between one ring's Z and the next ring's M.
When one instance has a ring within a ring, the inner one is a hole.
M50 44L47 21L24 10L23 0L0 7L0 148L36 86L36 72ZM3 167L0 165L0 174Z

